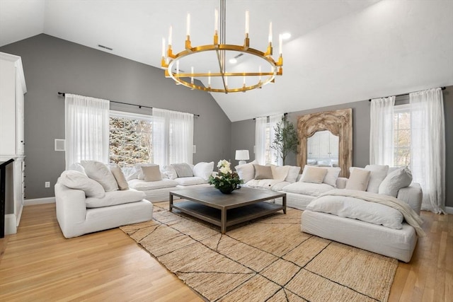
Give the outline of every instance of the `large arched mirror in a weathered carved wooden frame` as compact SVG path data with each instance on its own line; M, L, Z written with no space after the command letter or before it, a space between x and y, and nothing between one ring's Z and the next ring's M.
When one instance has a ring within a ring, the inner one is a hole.
M319 166L338 165L341 168L340 176L349 177L352 165L351 108L302 115L297 119L297 133L300 142L297 165L301 168L307 163ZM335 152L338 156L335 156Z

